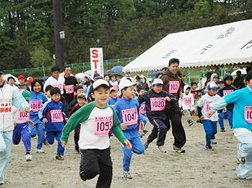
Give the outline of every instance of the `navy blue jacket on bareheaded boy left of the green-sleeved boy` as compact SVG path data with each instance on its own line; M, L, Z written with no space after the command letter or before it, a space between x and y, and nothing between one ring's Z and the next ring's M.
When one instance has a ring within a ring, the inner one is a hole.
M58 120L59 122L54 122L52 118L52 113L54 110L60 110L60 113L54 114L56 118L60 119L62 117L62 120ZM42 117L41 121L43 121L44 118L48 120L47 123L45 123L45 129L46 131L62 131L64 127L64 119L66 118L66 114L64 113L64 105L62 102L55 103L53 100L47 102L44 105L44 108L41 109L42 111ZM62 115L62 116L61 116Z

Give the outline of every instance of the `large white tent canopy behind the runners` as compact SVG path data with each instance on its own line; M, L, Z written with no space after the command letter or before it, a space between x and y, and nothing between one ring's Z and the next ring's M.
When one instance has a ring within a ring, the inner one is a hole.
M181 68L251 62L252 20L169 34L123 71L161 69L171 58L178 58Z

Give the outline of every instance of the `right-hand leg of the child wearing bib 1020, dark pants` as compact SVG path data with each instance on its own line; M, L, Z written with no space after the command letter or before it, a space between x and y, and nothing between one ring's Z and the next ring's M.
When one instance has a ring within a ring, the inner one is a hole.
M157 128L156 137L157 137L157 146L163 146L167 133L167 126L164 121L159 119L152 119L151 124Z

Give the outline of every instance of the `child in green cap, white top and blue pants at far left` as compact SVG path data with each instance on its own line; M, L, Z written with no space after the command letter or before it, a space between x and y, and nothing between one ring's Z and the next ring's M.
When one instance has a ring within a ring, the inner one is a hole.
M30 92L27 90L21 91L24 99L29 102L31 100ZM13 106L13 119L14 119L14 131L12 142L14 145L18 145L21 138L25 146L25 159L26 161L31 161L31 135L29 131L29 124L33 125L33 122L30 120L30 113L23 112L18 110Z

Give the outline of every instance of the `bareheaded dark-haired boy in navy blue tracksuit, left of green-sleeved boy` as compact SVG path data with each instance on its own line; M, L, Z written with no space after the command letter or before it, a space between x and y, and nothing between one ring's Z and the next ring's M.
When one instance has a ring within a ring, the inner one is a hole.
M63 103L60 101L60 90L58 88L52 88L50 90L51 101L47 102L43 109L41 109L41 120L45 123L46 141L49 144L54 143L54 138L58 142L57 147L57 160L64 160L64 148L61 145L60 137L62 129L64 127L64 120L67 121L64 113Z

